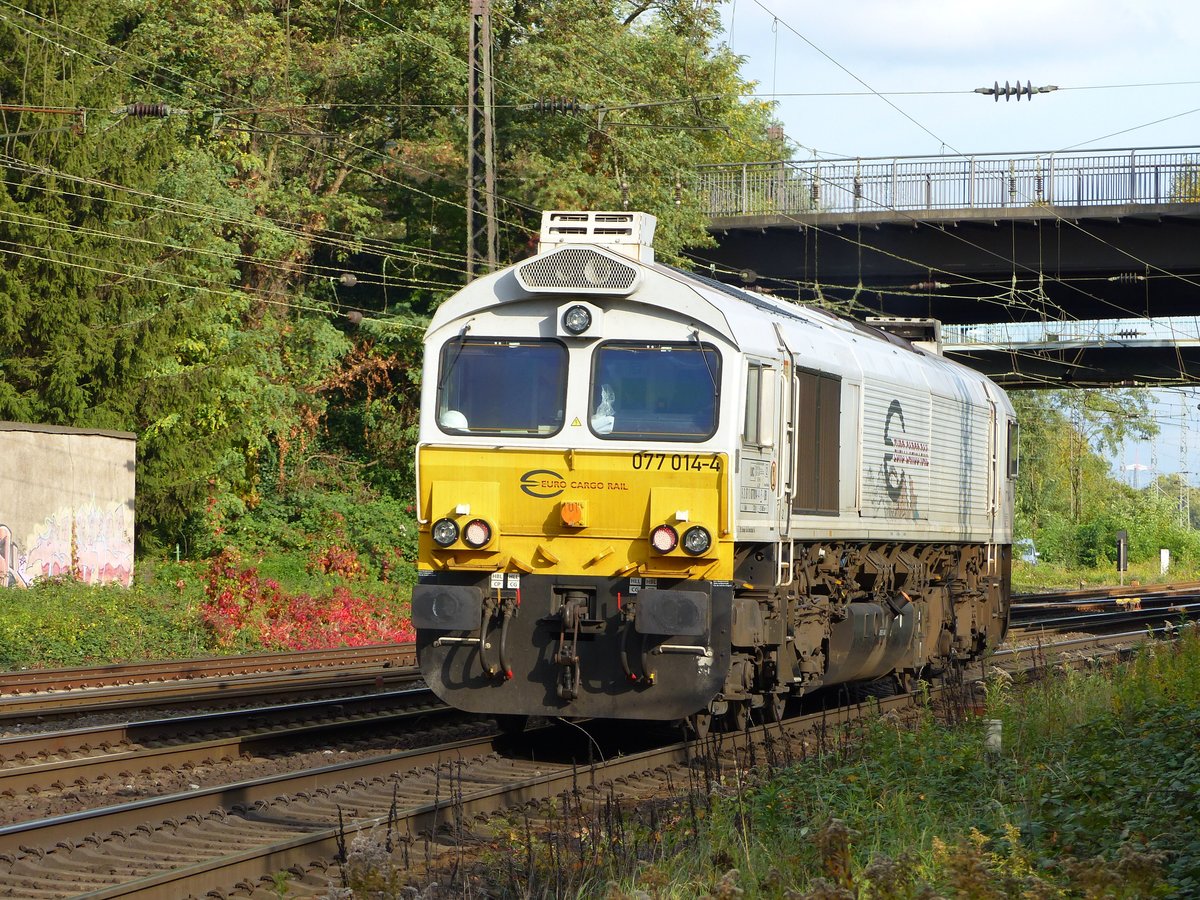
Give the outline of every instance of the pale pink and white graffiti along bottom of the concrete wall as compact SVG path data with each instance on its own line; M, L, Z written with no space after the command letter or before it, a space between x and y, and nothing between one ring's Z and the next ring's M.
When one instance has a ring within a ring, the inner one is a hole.
M88 584L133 581L133 517L125 504L60 508L24 541L0 524L0 587L74 577Z

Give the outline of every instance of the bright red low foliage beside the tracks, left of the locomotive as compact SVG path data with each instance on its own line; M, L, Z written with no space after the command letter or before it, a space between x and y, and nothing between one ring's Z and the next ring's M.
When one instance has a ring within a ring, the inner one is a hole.
M217 556L204 575L204 624L223 648L258 644L276 650L317 650L406 643L413 623L396 616L386 600L355 595L347 587L329 596L288 594L253 566L241 568L235 554Z

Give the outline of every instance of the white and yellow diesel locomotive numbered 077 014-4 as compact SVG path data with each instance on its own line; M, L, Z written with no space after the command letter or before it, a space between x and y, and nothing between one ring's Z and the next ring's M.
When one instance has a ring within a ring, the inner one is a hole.
M656 263L654 227L546 212L536 256L430 324L413 623L433 691L506 722L704 733L998 643L1004 392L941 355L936 323Z

